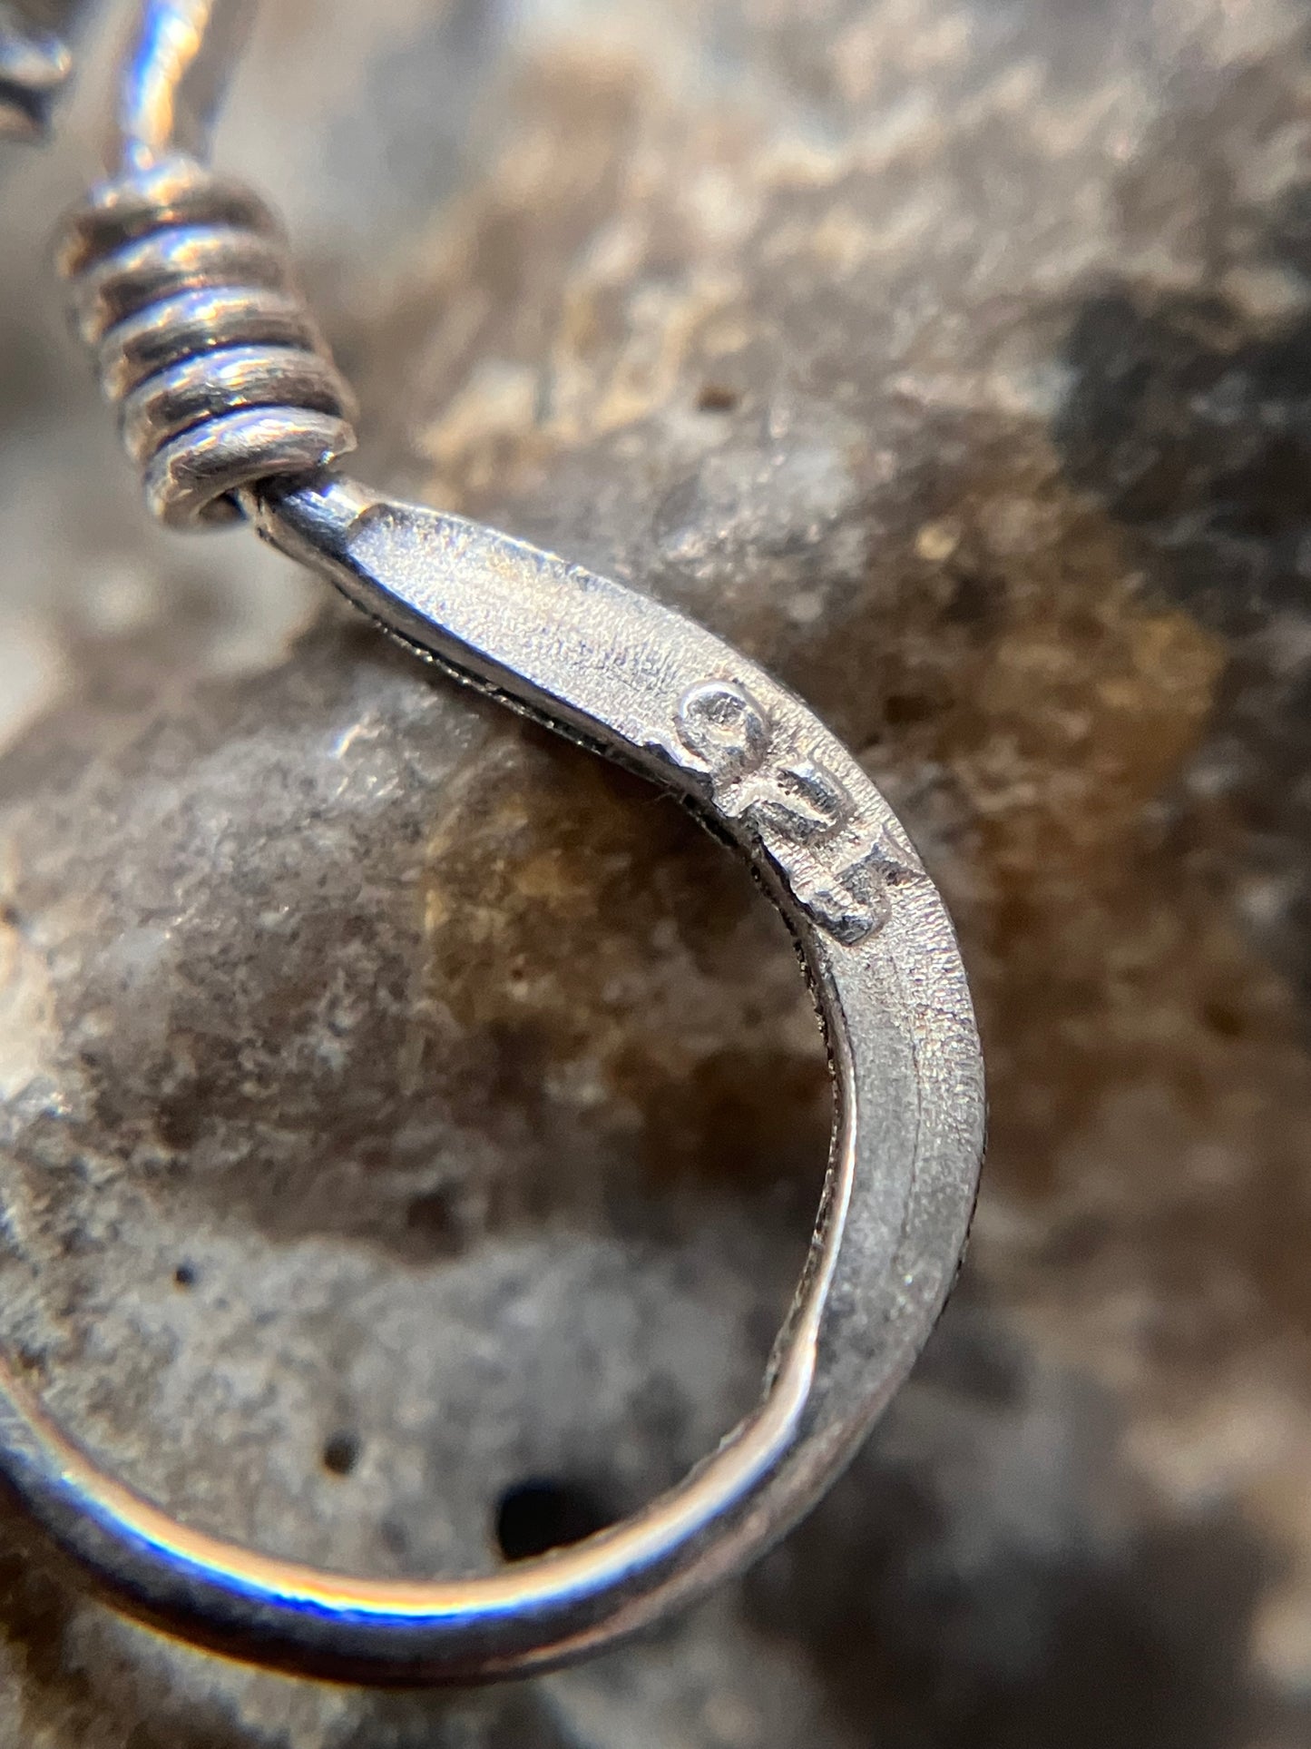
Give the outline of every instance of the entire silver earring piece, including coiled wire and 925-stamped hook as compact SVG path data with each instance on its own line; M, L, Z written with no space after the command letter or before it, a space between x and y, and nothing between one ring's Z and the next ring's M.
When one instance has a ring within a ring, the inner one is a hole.
M278 224L205 164L246 12L140 7L117 163L63 238L147 500L177 526L245 518L444 673L673 791L748 861L829 1039L827 1188L759 1406L669 1494L566 1550L432 1583L252 1553L105 1474L2 1364L0 1480L82 1583L196 1644L337 1679L488 1681L586 1656L697 1597L851 1457L960 1265L982 1154L979 1041L942 901L799 698L631 588L339 470L351 401ZM61 66L49 45L0 59L33 124Z

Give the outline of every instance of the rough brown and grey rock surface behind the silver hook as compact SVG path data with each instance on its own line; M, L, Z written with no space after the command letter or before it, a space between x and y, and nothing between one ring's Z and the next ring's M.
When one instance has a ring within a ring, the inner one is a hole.
M829 1091L682 813L246 532L147 523L49 268L124 9L0 147L0 1340L206 1529L486 1569L752 1403ZM1311 1740L1311 16L281 0L358 472L804 693L960 925L942 1326L757 1571L468 1695L248 1672L0 1520L0 1749Z

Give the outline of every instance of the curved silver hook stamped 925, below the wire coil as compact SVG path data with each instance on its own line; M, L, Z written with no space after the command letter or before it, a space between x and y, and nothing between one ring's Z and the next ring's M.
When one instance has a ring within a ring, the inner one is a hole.
M792 925L836 1083L809 1265L760 1406L642 1515L488 1578L336 1578L191 1532L0 1371L0 1480L129 1613L285 1669L479 1681L559 1663L704 1592L788 1529L911 1368L954 1279L982 1072L942 901L855 759L710 631L617 582L353 483L269 488L260 532L453 673L685 798Z

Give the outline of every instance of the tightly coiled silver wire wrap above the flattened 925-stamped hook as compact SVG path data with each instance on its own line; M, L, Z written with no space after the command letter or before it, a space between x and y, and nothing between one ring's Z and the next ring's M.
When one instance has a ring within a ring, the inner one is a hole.
M355 448L353 399L269 208L170 156L100 184L58 252L150 511L229 521L236 493Z

